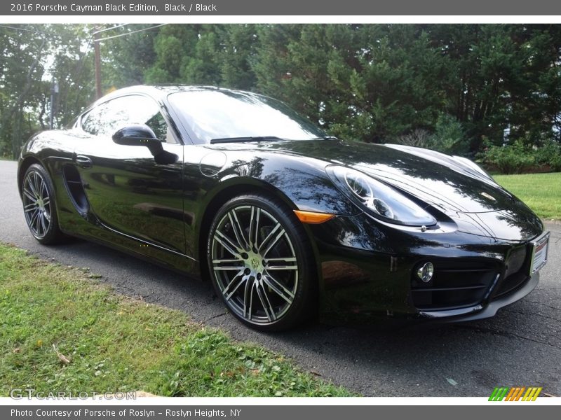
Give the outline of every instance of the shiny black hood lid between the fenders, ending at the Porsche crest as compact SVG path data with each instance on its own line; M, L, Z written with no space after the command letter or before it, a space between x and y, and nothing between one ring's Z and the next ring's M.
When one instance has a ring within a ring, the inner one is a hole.
M445 213L498 211L510 208L515 200L482 175L454 164L451 157L423 153L424 149L405 151L395 146L339 140L290 141L271 144L271 148L358 169Z

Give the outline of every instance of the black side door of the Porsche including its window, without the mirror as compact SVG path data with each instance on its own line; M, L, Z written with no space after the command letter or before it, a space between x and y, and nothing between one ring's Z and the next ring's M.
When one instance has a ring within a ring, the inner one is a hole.
M112 134L145 124L177 156L162 165L143 146L115 144ZM107 228L184 253L183 146L151 97L128 94L98 104L81 118L88 134L76 143L75 165L90 211Z

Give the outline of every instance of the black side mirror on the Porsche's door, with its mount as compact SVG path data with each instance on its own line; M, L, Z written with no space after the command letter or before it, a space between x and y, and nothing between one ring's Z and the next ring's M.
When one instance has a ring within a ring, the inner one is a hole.
M113 134L113 141L122 146L144 146L154 156L156 163L171 165L177 162L177 155L163 150L162 142L145 124L127 125Z

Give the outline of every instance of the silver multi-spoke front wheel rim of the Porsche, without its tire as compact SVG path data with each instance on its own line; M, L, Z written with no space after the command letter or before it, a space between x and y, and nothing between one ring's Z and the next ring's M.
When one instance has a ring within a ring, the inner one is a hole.
M212 233L212 271L229 309L250 323L275 323L292 306L298 262L287 232L269 212L230 209Z

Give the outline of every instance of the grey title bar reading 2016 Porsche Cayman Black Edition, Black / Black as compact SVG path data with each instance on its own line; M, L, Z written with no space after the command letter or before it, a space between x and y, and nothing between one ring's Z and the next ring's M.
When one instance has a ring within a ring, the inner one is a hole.
M561 15L561 2L551 0L8 0L0 15ZM0 18L1 20L1 18Z

